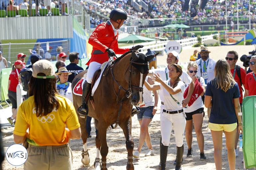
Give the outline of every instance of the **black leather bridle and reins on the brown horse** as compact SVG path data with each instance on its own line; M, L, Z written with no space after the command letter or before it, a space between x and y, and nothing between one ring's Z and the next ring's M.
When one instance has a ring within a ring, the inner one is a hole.
M113 89L114 89L114 92L115 92L115 95L116 95L116 102L117 102L117 103L120 103L120 107L119 107L119 111L118 111L118 116L117 116L117 121L115 122L115 123L116 123L116 124L115 124L115 127L113 127L113 125L111 125L111 128L112 128L112 129L115 129L115 128L117 127L118 123L119 123L119 118L120 118L120 113L121 113L122 104L123 104L123 102L126 100L126 98L129 98L129 97L133 96L133 95L136 94L137 92L143 92L143 87L138 87L138 86L135 86L135 85L132 85L132 84L131 84L131 82L132 82L132 81L131 81L132 63L134 63L134 64L139 64L139 65L148 65L148 63L138 63L138 62L134 62L133 59L131 60L131 62L130 62L130 71L129 71L129 72L130 72L130 74L129 74L129 83L128 83L128 88L127 88L127 90L124 89L123 86L119 85L119 83L116 81L116 79L115 79L115 77L114 77L113 71L114 71L115 63L113 64L113 68L110 66L111 74L112 74L112 77L113 77L113 83L112 83L112 85L113 85ZM129 67L128 67L128 68L129 68ZM126 69L125 73L127 72L128 68ZM115 88L114 88L114 80L115 80L116 84L119 86L119 87L118 87L118 88L119 88L118 93L116 93ZM137 88L138 90L134 93L133 90L132 90L132 87ZM121 89L125 91L125 94L124 94L124 96L121 98L121 100L118 101L118 96L119 96L119 93L120 93ZM125 98L125 96L126 96L126 98Z

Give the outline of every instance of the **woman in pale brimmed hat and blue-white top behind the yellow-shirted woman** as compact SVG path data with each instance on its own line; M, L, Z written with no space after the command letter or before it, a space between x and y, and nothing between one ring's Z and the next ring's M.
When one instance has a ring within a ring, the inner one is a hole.
M68 98L73 103L71 83L67 82L68 76L70 74L72 73L68 73L65 67L60 68L59 72L56 73L60 79L60 81L56 84L56 88L60 95Z

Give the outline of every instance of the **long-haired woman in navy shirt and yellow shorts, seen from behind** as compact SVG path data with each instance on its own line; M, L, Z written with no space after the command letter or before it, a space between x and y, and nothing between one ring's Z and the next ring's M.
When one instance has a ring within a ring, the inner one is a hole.
M234 143L236 137L236 118L239 132L242 132L239 104L239 87L230 73L228 62L221 59L216 62L214 68L215 78L206 86L204 105L211 106L208 128L214 146L214 161L216 170L222 169L222 132L226 137L228 164L230 170L235 170Z

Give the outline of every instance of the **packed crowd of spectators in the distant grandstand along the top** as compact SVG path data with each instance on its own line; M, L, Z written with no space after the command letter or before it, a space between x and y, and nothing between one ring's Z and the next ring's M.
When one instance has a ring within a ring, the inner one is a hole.
M163 18L193 18L195 24L204 24L206 22L218 23L220 20L224 20L225 17L225 1L224 0L208 0L206 5L201 8L198 4L192 4L191 8L188 10L184 9L185 0L144 0L145 3L149 6L149 12L146 12L141 8L141 12L136 11L131 7L129 1L95 1L102 6L92 5L88 2L84 3L85 8L90 8L104 16L109 15L109 12L113 8L123 8L127 11L128 16L132 19L163 19ZM251 0L250 5L250 14L251 22L256 22L256 0ZM249 5L247 0L238 1L238 14L239 16L248 16L249 15ZM237 1L227 1L227 16L237 16ZM99 19L91 18L91 23L95 24L95 20ZM232 19L230 19L232 20ZM99 22L98 24L100 24ZM185 23L187 24L187 23ZM96 26L97 24L95 24ZM94 27L95 27L94 26Z

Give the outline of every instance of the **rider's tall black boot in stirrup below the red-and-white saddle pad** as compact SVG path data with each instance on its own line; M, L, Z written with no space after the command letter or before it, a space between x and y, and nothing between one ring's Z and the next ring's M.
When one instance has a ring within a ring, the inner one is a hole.
M83 84L83 94L82 94L82 105L77 109L80 118L85 118L88 115L88 105L85 102L85 99L91 89L91 84L86 81Z

